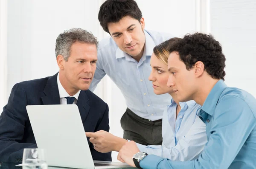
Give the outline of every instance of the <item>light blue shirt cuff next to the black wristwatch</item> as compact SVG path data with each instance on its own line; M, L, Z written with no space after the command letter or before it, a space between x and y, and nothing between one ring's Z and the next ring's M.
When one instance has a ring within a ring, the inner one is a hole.
M161 160L163 160L163 158L157 155L147 155L140 161L140 167L143 169L156 169Z

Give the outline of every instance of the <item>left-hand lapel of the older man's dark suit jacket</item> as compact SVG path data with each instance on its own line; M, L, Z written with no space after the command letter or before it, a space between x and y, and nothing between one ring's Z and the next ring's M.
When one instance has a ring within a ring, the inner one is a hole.
M51 76L44 87L43 92L45 96L41 97L43 104L61 104L57 84L57 75L58 73Z

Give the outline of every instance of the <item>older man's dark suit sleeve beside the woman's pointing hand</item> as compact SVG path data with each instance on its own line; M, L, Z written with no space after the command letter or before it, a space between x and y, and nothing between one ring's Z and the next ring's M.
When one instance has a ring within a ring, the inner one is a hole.
M97 123L96 130L94 132L99 131L99 130L105 130L105 131L109 132L108 123L109 123L108 104L106 104L105 113L103 114L102 119L99 120L99 122ZM112 161L111 152L107 152L107 153L97 152L93 148L93 144L90 144L90 149L91 149L91 154L93 156L93 160Z

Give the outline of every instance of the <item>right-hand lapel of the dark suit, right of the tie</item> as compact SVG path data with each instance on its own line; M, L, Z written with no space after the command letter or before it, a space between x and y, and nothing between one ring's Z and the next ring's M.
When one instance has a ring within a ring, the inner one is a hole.
M89 100L89 97L87 96L87 92L84 90L81 90L76 105L79 108L79 112L80 112L83 123L90 110L89 103L90 103L90 100Z

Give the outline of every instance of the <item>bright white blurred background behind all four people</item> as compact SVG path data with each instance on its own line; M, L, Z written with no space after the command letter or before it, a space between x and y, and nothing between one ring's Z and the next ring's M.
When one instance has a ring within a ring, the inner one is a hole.
M0 0L0 107L13 85L58 72L55 40L70 28L83 28L108 37L99 25L105 0ZM226 56L225 82L256 97L255 0L136 0L145 29L183 37L195 31L210 33ZM120 118L126 104L108 76L94 91L109 105L110 132L122 137ZM0 113L2 110L0 110ZM113 152L113 161L116 160Z

